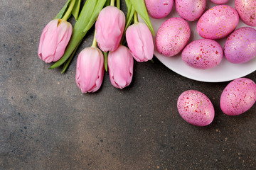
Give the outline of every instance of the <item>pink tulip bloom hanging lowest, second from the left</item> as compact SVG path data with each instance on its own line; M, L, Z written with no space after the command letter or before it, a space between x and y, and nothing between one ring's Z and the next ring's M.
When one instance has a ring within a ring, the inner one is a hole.
M87 47L77 60L75 82L82 93L100 89L104 76L104 57L97 47Z

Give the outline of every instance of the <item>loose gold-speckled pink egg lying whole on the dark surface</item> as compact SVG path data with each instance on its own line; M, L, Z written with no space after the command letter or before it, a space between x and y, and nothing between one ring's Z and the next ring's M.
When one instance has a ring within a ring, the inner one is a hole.
M184 91L178 97L177 108L181 117L192 125L206 126L214 118L213 103L200 91Z

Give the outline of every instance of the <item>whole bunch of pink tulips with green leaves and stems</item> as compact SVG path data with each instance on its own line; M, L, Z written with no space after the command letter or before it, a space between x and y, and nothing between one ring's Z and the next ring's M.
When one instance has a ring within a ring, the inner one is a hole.
M126 16L120 10L120 0L86 0L81 11L80 0L68 0L43 29L38 57L47 63L55 62L49 69L63 65L65 72L87 31L95 26L92 46L78 55L76 84L82 93L95 92L108 71L114 87L129 86L134 60L146 62L154 55L154 30L144 0L125 2ZM138 14L146 24L139 23ZM74 28L67 21L70 16L76 20Z

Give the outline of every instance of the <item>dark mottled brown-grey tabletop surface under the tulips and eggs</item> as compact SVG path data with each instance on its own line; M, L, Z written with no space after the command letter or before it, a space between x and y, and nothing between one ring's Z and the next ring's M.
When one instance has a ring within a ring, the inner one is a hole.
M75 84L78 54L65 74L48 70L51 64L38 59L38 42L65 2L1 0L0 169L255 168L256 105L235 117L222 113L228 82L193 81L154 58L154 64L134 62L126 89L115 89L106 73L100 91L82 94ZM256 81L256 72L247 78ZM189 89L215 107L207 127L178 114L177 98Z

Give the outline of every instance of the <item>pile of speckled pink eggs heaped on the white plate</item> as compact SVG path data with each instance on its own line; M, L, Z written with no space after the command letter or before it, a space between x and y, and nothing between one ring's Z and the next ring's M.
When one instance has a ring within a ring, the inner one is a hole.
M206 9L208 1L215 6ZM183 62L196 69L216 67L223 57L235 64L252 60L256 56L256 30L252 28L256 27L256 1L235 0L235 8L225 5L228 1L145 0L152 18L164 18L174 8L179 15L161 24L156 33L156 50L166 57L181 52ZM235 30L240 19L247 27ZM195 42L189 42L191 21L197 22L196 31L202 38ZM216 41L223 38L224 50Z

